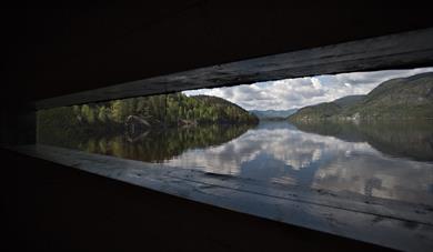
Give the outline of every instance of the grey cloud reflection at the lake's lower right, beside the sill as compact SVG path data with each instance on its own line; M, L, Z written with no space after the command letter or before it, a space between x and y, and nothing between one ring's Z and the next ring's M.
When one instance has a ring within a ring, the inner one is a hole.
M381 155L338 155L314 177L313 188L404 199L433 205L433 165Z

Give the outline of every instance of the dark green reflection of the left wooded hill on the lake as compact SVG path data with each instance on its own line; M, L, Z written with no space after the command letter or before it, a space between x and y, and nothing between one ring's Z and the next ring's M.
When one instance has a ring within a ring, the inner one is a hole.
M172 159L189 149L219 145L245 133L252 125L219 125L169 128L147 131L140 135L117 135L105 138L51 139L46 144L79 149L100 154L160 162ZM53 142L54 141L54 142Z

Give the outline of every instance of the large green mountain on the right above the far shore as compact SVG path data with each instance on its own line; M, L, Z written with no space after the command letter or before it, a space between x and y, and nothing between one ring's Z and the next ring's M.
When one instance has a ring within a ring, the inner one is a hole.
M289 120L308 122L427 118L433 118L433 72L384 81L366 95L350 95L304 107L289 117Z

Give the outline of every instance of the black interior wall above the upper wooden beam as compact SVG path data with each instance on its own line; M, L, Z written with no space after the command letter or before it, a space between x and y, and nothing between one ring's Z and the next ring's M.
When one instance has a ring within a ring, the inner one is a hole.
M413 3L181 0L4 9L10 92L44 99L261 56L433 27ZM353 3L352 3L353 4ZM4 60L6 59L6 60ZM10 93L2 93L10 97Z

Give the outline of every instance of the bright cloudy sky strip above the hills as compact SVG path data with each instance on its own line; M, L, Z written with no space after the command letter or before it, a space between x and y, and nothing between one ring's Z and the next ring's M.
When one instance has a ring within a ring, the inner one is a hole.
M366 94L383 81L422 72L433 72L433 68L325 74L230 88L190 90L183 93L220 97L245 110L288 110L329 102L345 95Z

